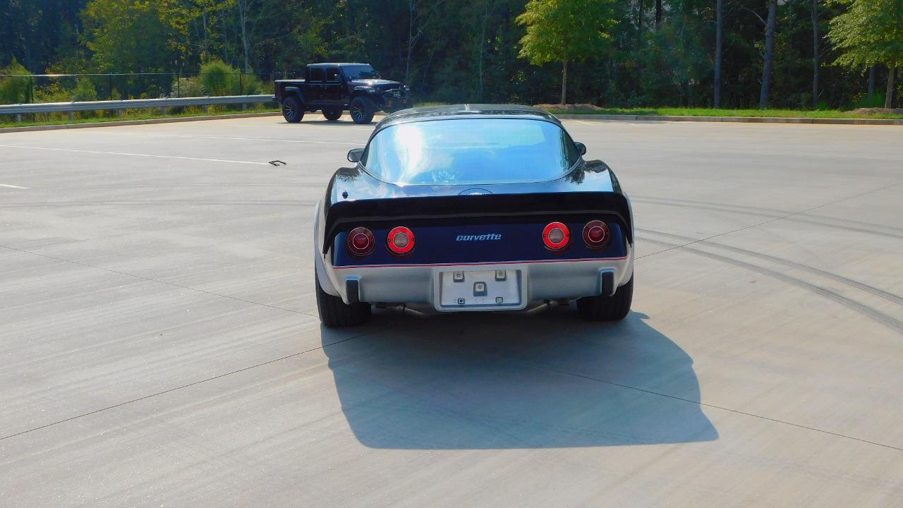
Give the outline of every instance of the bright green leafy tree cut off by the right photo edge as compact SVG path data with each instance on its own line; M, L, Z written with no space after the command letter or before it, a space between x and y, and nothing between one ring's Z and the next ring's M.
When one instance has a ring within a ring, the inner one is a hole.
M828 37L841 51L840 65L888 66L884 107L892 108L897 67L903 62L903 0L852 0L847 12L831 21Z

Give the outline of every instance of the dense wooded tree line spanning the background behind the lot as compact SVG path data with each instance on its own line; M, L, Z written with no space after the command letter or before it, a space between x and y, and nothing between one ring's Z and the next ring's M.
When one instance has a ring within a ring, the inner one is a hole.
M896 51L899 35L877 34L899 33L893 27L901 2L819 0L815 27L822 35L815 36L811 0L779 1L769 106L864 103L865 67L876 80L889 78L893 61L881 55ZM755 107L768 2L721 4L721 106ZM562 62L568 61L569 102L702 107L714 99L716 5L717 0L0 0L0 67L15 57L35 74L172 72L160 79L92 78L98 98L107 99L197 92L204 86L195 76L214 60L237 71L247 65L265 89L275 77L293 76L312 61L368 61L386 77L406 75L418 100L535 104L561 99ZM830 65L839 58L842 65ZM814 65L820 65L815 87ZM36 86L48 87L48 80L35 78ZM71 96L77 80L58 84L66 90L55 94ZM891 87L889 95L898 89ZM40 90L32 91L39 96Z

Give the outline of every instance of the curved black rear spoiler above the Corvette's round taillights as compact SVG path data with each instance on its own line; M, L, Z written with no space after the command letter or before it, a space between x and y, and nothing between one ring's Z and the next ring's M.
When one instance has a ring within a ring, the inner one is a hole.
M341 230L362 222L535 217L555 213L614 216L633 243L633 222L621 193L518 193L368 199L332 203L326 210L323 254Z

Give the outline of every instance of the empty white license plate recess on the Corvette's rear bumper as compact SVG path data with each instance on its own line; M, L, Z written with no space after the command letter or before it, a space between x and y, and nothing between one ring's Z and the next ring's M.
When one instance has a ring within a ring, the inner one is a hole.
M503 310L521 307L520 270L442 272L439 306L443 310Z

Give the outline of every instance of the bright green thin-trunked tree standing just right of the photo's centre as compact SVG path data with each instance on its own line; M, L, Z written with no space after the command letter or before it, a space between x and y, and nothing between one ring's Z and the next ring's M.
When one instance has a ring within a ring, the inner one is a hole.
M562 99L567 99L567 64L608 49L614 0L530 0L517 23L526 26L520 56L534 65L562 62Z

